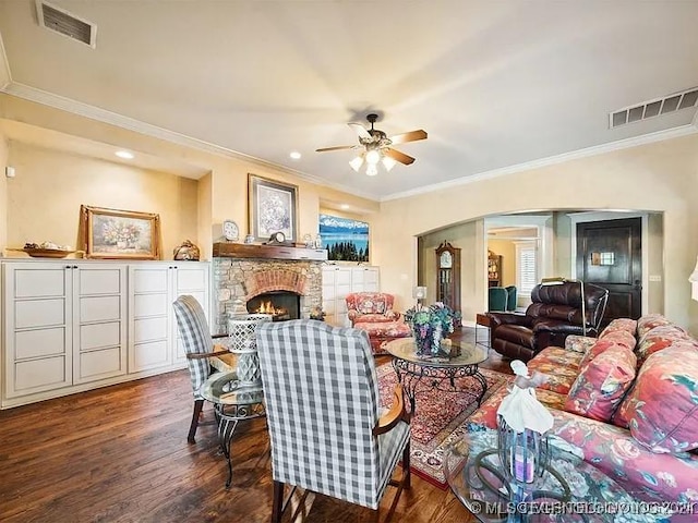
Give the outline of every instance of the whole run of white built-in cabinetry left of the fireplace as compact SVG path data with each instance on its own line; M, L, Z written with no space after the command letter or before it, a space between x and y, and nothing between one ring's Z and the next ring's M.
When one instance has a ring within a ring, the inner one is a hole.
M3 260L1 406L186 366L172 302L209 311L209 266Z

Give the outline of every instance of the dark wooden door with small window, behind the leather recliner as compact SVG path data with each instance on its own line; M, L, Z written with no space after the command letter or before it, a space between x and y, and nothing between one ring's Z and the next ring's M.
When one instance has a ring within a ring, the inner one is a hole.
M577 224L577 277L609 290L601 327L642 311L641 218Z

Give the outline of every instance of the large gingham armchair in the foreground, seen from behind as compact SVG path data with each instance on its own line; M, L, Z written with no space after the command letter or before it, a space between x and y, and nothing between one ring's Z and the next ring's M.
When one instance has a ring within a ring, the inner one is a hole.
M398 487L387 519L410 486L410 426L398 386L381 415L375 363L362 330L299 319L256 333L272 441L272 522L281 520L284 485L377 510ZM398 482L392 476L402 458Z

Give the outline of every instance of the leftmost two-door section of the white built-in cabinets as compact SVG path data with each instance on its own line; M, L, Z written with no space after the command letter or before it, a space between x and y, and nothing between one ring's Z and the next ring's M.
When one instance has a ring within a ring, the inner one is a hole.
M3 400L124 375L120 264L3 264Z

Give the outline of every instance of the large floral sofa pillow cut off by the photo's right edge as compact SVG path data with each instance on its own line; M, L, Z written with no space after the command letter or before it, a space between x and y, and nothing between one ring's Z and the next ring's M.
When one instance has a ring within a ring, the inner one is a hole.
M698 449L698 348L677 341L649 356L626 402L630 434L647 449Z

